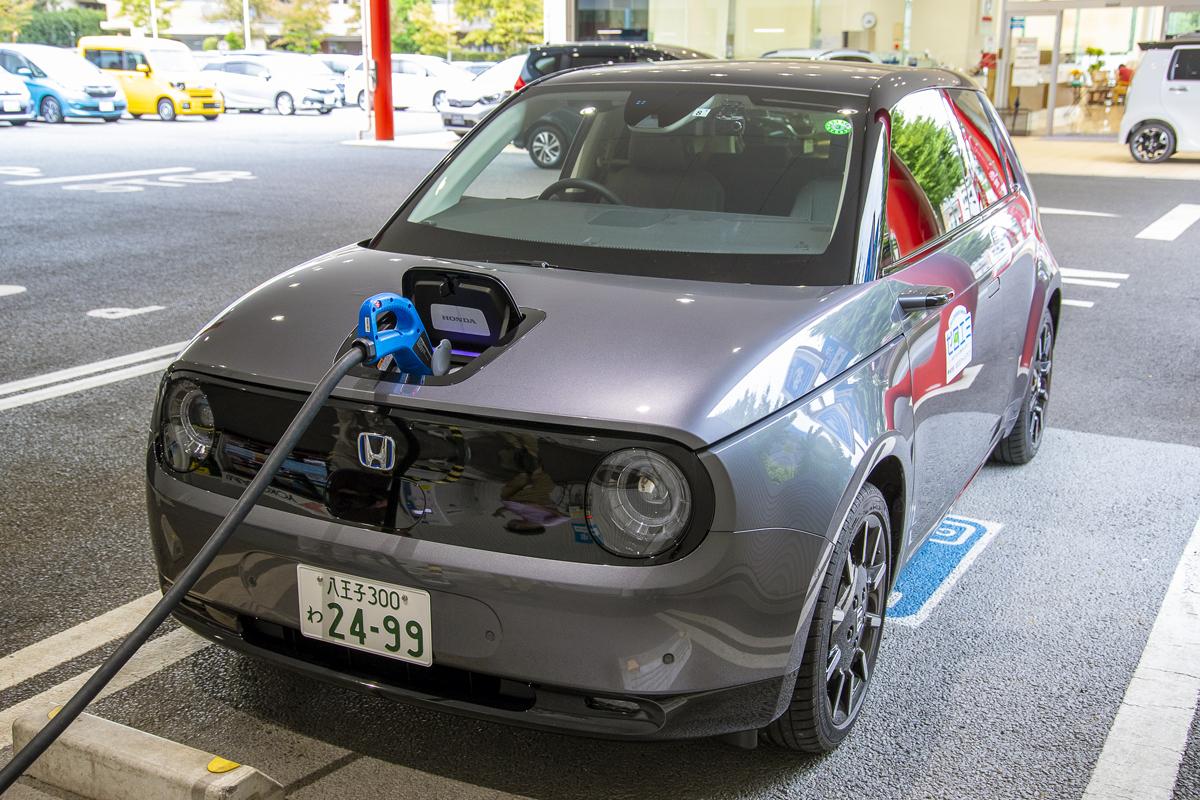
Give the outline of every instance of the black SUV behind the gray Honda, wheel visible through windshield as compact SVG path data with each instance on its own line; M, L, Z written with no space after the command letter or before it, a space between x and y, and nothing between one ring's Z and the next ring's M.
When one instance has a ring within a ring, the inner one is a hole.
M540 44L529 48L529 58L521 67L514 89L521 89L542 76L574 67L595 67L602 64L636 61L680 61L712 59L712 55L673 44L652 42L568 42ZM533 163L542 169L558 169L568 145L578 131L578 114L546 115L536 120L512 144L529 151Z

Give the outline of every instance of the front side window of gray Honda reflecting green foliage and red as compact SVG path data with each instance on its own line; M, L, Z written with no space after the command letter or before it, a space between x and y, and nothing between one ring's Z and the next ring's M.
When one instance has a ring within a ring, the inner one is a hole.
M902 258L968 219L979 198L967 180L954 116L936 89L908 95L892 109L888 229Z

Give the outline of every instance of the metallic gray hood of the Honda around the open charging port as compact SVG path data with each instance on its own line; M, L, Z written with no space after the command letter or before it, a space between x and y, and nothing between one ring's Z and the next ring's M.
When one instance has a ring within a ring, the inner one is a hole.
M545 319L451 385L348 377L338 397L474 416L620 429L689 447L809 393L899 335L894 289L761 287L576 270L473 265L353 246L253 289L176 362L308 391L352 333L362 300L400 291L416 265L478 269Z

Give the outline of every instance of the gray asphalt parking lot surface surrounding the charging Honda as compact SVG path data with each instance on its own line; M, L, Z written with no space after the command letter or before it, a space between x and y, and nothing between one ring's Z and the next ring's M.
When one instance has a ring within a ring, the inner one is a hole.
M272 275L372 235L450 139L433 115L400 114L412 146L344 144L360 122L0 128L0 658L156 588L143 473L158 373L5 405L41 391L12 381L181 342ZM1138 237L1200 193L1033 182L1074 271L1051 431L1032 464L988 467L960 499L954 513L995 536L919 625L889 626L835 753L514 729L312 682L174 626L155 640L161 668L95 712L253 764L292 798L1081 796L1200 518L1200 224ZM0 720L110 646L0 681ZM1178 800L1200 799L1198 724Z

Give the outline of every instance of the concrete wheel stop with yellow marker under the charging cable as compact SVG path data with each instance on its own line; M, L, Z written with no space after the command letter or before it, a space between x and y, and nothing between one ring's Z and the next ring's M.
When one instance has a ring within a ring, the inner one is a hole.
M14 751L56 710L13 721ZM90 714L80 714L26 774L89 800L283 799L283 787L252 766Z

